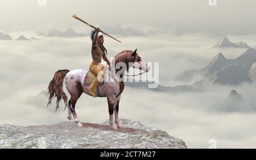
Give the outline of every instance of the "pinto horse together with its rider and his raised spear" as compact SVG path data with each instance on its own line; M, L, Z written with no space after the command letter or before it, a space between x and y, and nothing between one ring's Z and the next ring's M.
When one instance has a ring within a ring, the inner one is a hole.
M80 19L76 15L73 15L73 18L76 18L82 21L85 24L88 24L90 27L93 25L86 23L86 21ZM95 28L92 31L91 39L92 39L92 58L93 62L90 64L90 74L97 76L97 78L88 85L82 85L85 82L85 77L88 73L88 70L84 69L76 69L76 70L58 70L55 72L53 79L49 82L48 85L48 105L51 105L52 98L56 97L56 110L59 109L59 102L61 100L64 101L65 107L68 106L68 116L69 120L74 120L78 127L82 127L82 123L80 122L75 106L76 102L81 96L82 93L86 93L93 97L106 97L108 100L108 109L109 109L109 124L112 129L117 129L122 127L121 122L118 118L118 111L119 111L119 101L121 99L121 94L125 85L122 81L123 75L125 72L129 71L129 68L136 68L138 70L144 71L146 73L150 70L147 66L147 63L144 61L144 58L137 53L137 49L133 50L123 50L112 60L112 67L114 70L106 70L104 75L104 70L106 66L101 64L101 58L103 58L108 64L110 64L108 58L106 58L106 49L103 46L104 37L101 33L109 36L108 33L100 31L99 28ZM112 36L109 36L112 37ZM112 37L114 40L114 37ZM118 41L118 40L117 40ZM120 42L120 41L118 41ZM122 70L116 67L117 64L124 64ZM116 69L115 69L116 68ZM111 68L110 68L111 69ZM120 77L115 76L120 73ZM137 75L141 75L139 73ZM131 76L137 76L131 75ZM126 75L130 76L130 75ZM118 78L118 79L116 79ZM101 86L97 88L97 94L95 93L95 89L101 80L105 80L105 83L102 83ZM120 81L121 80L121 81ZM68 101L68 97L63 90L63 83L65 83L65 87L70 94L70 99ZM95 95L96 94L96 95ZM73 116L73 118L72 118Z

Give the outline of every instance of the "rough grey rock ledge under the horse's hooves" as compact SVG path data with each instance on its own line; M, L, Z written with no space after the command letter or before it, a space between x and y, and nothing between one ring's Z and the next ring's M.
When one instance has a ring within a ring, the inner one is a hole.
M62 122L50 126L0 126L0 148L187 148L185 142L167 132L128 119L123 128L104 123Z

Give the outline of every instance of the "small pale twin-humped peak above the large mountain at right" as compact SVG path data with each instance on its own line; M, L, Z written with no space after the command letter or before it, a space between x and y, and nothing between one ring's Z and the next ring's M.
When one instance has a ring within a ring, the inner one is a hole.
M222 37L217 44L215 44L212 48L222 48L222 47L240 47L240 48L250 48L246 44L246 42L231 42L226 36Z

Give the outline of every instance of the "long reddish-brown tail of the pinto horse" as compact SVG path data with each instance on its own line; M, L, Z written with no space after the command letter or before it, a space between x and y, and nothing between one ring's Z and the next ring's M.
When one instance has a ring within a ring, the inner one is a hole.
M59 102L61 99L64 100L65 107L68 106L68 103L67 103L68 97L66 96L66 94L63 91L63 79L68 72L69 72L69 70L59 70L59 71L55 72L53 79L49 83L48 93L47 93L47 95L49 94L49 99L48 99L49 101L48 101L47 107L49 105L51 105L52 98L53 98L53 96L55 96L55 97L57 97L55 111L57 111L57 109L59 109Z

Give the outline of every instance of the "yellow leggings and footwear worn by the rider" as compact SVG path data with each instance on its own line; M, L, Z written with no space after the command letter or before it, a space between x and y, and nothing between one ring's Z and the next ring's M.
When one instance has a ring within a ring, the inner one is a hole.
M96 97L95 96L96 87L98 86L100 81L104 80L105 68L106 68L106 66L101 63L99 63L98 65L96 63L90 64L90 72L92 72L95 76L97 76L97 78L93 80L92 84L90 84L90 86L88 88L90 95L92 95L94 98Z

